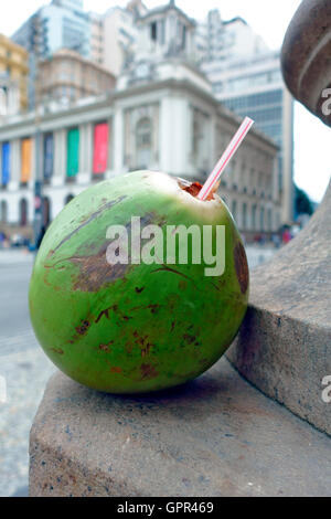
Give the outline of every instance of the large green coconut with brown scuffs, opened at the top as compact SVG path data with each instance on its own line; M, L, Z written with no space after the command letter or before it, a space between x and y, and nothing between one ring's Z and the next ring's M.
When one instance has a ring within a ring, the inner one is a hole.
M222 199L194 194L166 173L138 171L87 189L51 224L32 273L30 314L47 357L75 381L109 393L161 390L199 377L233 342L248 301L245 250ZM164 235L154 246L141 241L149 264L132 261L132 216ZM109 239L114 225L128 242ZM211 265L203 252L196 262L193 239L186 263L177 237L175 261L167 262L167 232L180 225L202 236L204 226L212 230L214 254L223 226L224 272L206 275ZM131 260L109 263L109 246Z

